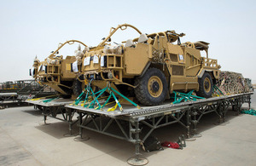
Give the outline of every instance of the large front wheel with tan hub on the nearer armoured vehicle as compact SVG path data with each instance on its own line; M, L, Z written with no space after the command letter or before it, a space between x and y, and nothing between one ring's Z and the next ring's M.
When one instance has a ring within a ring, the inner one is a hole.
M160 105L166 99L167 81L159 69L149 68L143 77L136 78L135 84L137 100L145 106Z

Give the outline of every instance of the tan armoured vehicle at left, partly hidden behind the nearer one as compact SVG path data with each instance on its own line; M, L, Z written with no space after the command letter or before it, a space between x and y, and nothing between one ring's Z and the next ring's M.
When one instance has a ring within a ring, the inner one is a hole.
M67 56L59 55L59 50L66 44L80 43L84 46L82 51L75 51L75 55ZM80 76L82 59L84 53L89 51L88 47L77 40L70 40L60 43L58 49L53 51L44 61L34 60L30 75L34 77L38 83L48 85L62 94L64 98L70 98L73 94L77 97L84 87L84 76Z

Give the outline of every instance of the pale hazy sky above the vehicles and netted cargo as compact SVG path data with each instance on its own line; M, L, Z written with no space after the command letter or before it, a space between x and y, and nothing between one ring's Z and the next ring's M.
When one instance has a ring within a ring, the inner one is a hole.
M95 46L110 27L123 23L144 33L184 32L182 43L211 43L209 56L218 59L221 70L256 80L255 0L0 0L0 82L31 79L28 70L36 55L44 60L70 39ZM137 33L121 31L112 41L133 37ZM74 49L67 47L63 55Z

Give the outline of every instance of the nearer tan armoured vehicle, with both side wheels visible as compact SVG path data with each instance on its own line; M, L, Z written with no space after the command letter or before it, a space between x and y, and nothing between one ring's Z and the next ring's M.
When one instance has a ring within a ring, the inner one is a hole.
M131 27L139 37L125 44L111 45L113 33ZM84 75L93 85L103 89L111 83L126 96L135 95L143 105L162 103L175 91L194 89L209 98L213 83L219 77L217 60L208 58L206 42L181 43L185 34L163 31L143 34L128 24L111 28L108 37L93 51L84 54ZM201 51L207 57L201 56Z

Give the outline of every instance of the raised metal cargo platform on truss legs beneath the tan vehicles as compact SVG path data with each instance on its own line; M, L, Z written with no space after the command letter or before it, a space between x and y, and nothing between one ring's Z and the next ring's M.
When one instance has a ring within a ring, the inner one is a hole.
M131 160L144 162L146 159L139 157L140 146L155 129L179 123L186 130L186 139L193 140L198 135L197 123L200 122L202 116L212 112L217 115L218 123L225 123L225 115L230 106L237 115L241 113L241 106L244 103L247 103L248 109L250 109L252 94L253 92L224 95L179 104L172 104L171 100L167 100L163 105L141 106L141 109L122 104L123 111L119 111L119 107L117 107L115 111L111 112L108 112L108 108L113 105L105 106L102 110L96 110L83 106L73 106L72 100L64 99L52 100L49 103L43 103L42 100L28 102L42 106L44 121L46 121L47 116L66 121L70 124L71 132L72 125L78 123L79 139L81 140L83 140L84 129L90 129L104 135L130 141L135 145L136 155ZM78 119L73 121L75 113L78 114ZM56 117L57 114L62 114L62 118Z

